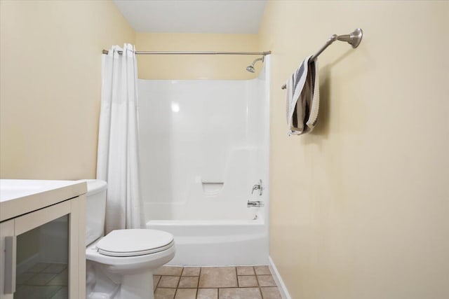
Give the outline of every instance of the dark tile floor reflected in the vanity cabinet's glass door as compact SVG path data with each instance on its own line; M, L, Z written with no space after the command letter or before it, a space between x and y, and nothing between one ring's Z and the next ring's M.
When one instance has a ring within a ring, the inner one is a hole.
M68 275L67 264L36 263L18 275L14 299L66 299Z

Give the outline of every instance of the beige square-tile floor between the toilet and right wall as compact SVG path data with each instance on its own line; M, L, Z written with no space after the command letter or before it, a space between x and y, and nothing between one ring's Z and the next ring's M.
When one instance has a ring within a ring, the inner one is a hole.
M268 266L161 267L154 299L281 299Z

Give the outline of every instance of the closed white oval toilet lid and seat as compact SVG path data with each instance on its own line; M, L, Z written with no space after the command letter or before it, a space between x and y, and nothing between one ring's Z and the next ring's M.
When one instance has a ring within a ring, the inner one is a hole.
M173 235L161 230L112 230L97 244L98 252L105 256L142 256L173 246Z

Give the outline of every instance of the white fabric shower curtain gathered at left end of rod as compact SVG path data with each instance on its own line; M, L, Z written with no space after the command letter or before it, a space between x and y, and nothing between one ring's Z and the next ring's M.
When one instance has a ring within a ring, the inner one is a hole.
M142 227L134 51L130 44L113 46L102 60L97 178L108 184L106 233Z

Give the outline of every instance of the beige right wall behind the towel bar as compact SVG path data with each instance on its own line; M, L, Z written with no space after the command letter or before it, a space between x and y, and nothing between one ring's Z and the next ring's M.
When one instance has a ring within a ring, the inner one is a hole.
M281 85L319 58L313 134L286 136ZM449 3L269 1L270 251L293 299L449 298Z

